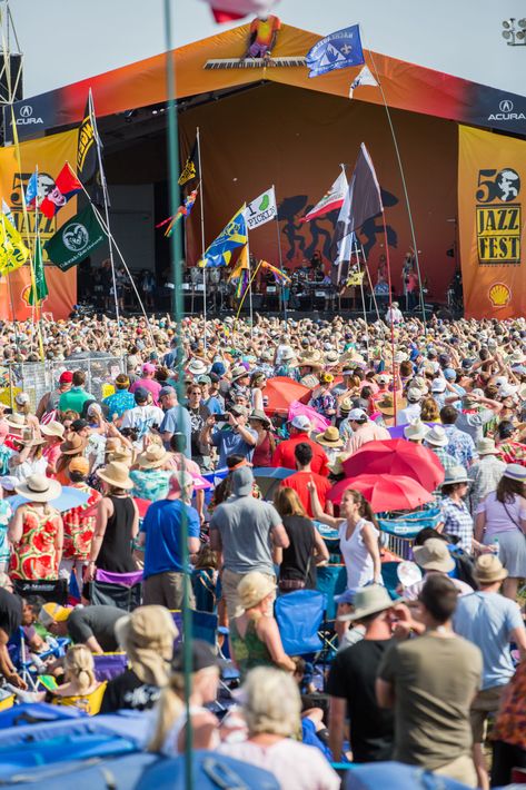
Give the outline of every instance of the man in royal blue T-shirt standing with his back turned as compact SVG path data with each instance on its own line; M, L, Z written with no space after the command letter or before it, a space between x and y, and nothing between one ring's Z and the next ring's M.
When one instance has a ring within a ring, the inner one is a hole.
M199 551L199 516L190 507L193 478L188 472L176 472L170 477L166 500L152 502L142 522L139 544L145 545L143 603L167 609L181 609L183 598L183 565L181 531L186 519L188 553ZM190 592L190 606L193 593Z

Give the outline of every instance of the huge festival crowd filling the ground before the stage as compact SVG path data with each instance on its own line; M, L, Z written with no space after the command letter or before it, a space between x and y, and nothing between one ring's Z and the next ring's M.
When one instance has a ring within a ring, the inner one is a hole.
M484 789L526 768L526 322L390 319L193 317L179 340L169 316L46 323L46 356L61 363L54 386L38 403L17 389L0 406L8 687L93 714L145 711L145 748L182 752L170 611L190 580L190 606L221 626L219 652L192 642L195 748L307 790L339 787L331 761L394 759ZM31 332L2 325L11 382L39 358ZM118 344L122 369L95 397L79 362ZM274 405L276 378L278 391L302 385L295 413ZM333 495L348 458L393 437L443 470L430 492L437 523L411 549L420 574L396 591L384 565L400 557L370 503L350 483ZM270 496L266 470L279 473ZM314 688L274 604L316 590L329 563L346 583L335 655ZM99 599L101 582L125 574L140 582L131 613ZM32 594L41 582L56 583L56 600ZM70 640L63 660L43 663L51 690L28 691L10 651L20 629L36 665L53 640ZM95 656L116 650L127 668L99 682ZM211 703L225 656L241 690L220 721Z

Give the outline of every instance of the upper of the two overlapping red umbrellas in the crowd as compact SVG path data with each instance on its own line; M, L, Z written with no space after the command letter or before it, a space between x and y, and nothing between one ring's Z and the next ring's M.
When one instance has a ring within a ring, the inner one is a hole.
M405 475L416 480L426 491L435 491L444 481L444 467L433 450L405 438L367 442L344 461L348 477L365 474Z

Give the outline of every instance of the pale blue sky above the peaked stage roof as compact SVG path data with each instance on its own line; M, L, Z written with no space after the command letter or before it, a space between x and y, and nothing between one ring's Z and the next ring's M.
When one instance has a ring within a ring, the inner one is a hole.
M4 6L6 0L1 1ZM205 0L171 0L178 47L231 26ZM24 53L24 97L166 50L163 0L10 0ZM526 47L508 47L503 20L524 0L280 0L285 23L326 34L358 22L364 47L515 93L526 92Z

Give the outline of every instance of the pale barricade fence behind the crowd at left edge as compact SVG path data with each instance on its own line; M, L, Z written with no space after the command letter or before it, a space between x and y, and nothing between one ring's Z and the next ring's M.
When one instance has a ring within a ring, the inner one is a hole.
M11 406L11 398L24 392L29 395L31 411L34 412L41 397L57 389L60 374L64 371L83 371L86 391L100 401L105 397L105 385L112 384L119 373L126 372L126 357L100 354L60 361L4 363L0 367L0 403Z

